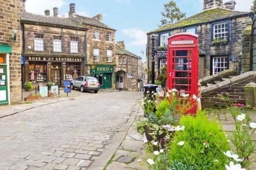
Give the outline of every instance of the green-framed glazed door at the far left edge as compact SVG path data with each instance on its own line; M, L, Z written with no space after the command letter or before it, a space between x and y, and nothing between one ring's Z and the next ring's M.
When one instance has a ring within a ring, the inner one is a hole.
M0 104L8 103L7 67L0 65Z

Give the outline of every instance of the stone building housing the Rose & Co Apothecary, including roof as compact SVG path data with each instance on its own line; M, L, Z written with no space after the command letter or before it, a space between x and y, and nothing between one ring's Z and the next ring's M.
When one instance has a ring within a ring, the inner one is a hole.
M86 73L87 28L70 18L22 13L23 83L62 85Z

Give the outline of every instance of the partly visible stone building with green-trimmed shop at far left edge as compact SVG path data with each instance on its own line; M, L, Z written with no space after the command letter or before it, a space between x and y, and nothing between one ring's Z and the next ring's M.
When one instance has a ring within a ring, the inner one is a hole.
M9 0L0 5L0 104L20 103L21 31L20 12L24 1Z

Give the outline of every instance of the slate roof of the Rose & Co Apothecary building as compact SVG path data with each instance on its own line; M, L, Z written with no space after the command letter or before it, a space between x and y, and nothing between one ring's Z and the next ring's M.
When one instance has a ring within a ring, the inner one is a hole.
M54 17L54 16L45 16L45 15L36 15L33 13L22 13L20 16L21 21L29 21L35 23L42 24L52 24L59 26L67 26L67 27L80 27L84 28L83 25L74 21L70 18L62 18L62 17Z

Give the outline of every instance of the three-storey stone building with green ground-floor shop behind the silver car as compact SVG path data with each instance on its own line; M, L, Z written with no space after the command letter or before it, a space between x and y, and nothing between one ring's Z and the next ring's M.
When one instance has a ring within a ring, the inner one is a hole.
M75 13L75 4L70 3L70 18L88 28L87 74L97 77L101 88L115 88L115 31L102 22L102 15L93 18Z

